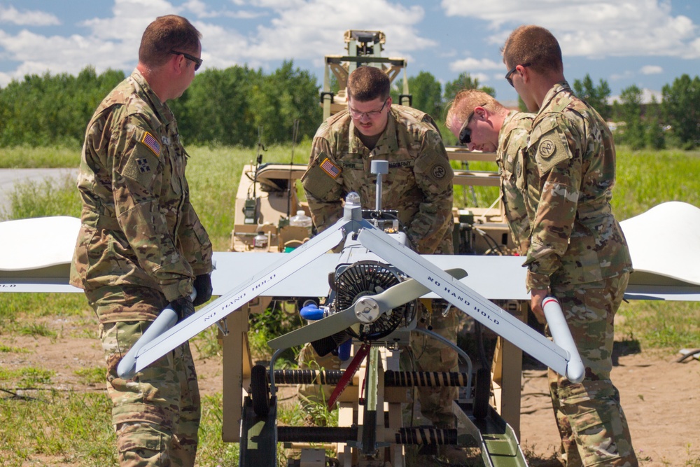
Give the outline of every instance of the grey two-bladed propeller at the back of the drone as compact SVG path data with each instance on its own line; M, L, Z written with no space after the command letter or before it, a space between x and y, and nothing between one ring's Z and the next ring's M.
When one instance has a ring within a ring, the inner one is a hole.
M445 272L456 279L462 279L467 275L467 272L460 268L446 270ZM331 314L323 319L307 324L303 328L295 329L290 333L276 337L267 342L267 344L272 349L288 349L307 342L314 342L323 339L323 337L340 333L357 324L372 323L389 310L416 300L428 292L430 292L430 289L423 286L419 281L407 279L377 295L364 295L341 312Z

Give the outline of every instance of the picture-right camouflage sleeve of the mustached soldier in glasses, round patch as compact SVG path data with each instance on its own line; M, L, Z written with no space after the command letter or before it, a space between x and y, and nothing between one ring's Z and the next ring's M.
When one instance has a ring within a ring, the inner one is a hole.
M414 165L416 183L423 192L418 213L406 235L419 253L434 253L452 222L452 178L447 151L440 134L426 132Z

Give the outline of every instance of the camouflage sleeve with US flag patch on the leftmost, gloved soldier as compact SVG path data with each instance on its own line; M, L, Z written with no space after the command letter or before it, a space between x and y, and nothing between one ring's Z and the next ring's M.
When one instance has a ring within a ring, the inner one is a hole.
M175 244L159 195L165 180L164 162L144 144L146 133L155 134L139 116L130 116L110 144L113 197L117 221L139 265L172 301L192 292L191 269Z

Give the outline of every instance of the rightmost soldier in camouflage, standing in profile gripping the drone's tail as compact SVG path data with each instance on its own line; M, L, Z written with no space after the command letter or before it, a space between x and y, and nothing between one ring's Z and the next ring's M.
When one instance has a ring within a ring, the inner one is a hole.
M525 265L533 312L559 298L586 373L572 384L549 370L567 466L636 466L619 393L610 381L613 321L631 271L612 215L615 145L605 121L573 95L559 43L542 27L515 29L503 47L506 79L537 111L528 139L526 183L534 209Z

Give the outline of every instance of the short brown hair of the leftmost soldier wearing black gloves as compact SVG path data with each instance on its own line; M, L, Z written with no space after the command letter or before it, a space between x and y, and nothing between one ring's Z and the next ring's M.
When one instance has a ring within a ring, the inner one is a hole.
M171 50L197 53L202 34L192 23L178 15L155 18L144 31L139 47L139 62L158 67L169 60Z

